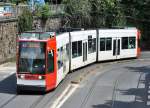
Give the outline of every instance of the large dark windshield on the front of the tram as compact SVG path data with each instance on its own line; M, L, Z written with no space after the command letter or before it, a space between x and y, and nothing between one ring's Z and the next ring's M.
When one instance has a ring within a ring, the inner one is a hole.
M20 42L18 73L45 74L44 42Z

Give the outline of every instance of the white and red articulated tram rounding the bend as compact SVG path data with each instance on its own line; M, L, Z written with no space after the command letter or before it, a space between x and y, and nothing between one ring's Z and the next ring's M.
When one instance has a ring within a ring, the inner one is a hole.
M69 71L88 64L137 58L140 32L136 28L65 32L25 32L18 36L17 90L48 91Z

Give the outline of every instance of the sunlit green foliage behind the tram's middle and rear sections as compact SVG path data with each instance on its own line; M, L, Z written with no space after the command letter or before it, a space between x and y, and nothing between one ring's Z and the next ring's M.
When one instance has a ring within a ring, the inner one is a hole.
M63 0L71 27L124 26L124 12L117 0Z

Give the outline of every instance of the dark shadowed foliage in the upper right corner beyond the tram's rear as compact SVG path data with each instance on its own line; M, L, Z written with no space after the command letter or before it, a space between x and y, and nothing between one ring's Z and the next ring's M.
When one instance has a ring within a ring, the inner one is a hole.
M136 26L141 30L143 44L150 43L150 1L122 0L121 3L128 25Z

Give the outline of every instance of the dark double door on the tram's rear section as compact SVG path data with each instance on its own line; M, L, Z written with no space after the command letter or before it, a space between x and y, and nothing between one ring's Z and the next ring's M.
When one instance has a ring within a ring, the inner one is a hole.
M120 58L120 38L113 39L113 56Z

